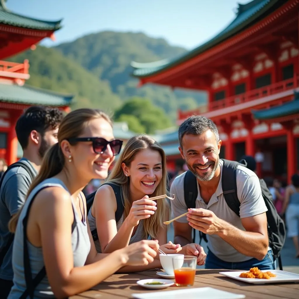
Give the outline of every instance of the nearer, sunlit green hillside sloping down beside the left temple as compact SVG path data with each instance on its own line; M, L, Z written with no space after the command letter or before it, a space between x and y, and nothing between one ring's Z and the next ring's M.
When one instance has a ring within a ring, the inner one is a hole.
M26 83L74 94L73 108L97 107L111 113L122 103L120 97L112 92L109 82L98 79L54 48L38 46L35 51L25 51L10 61L22 63L24 59L28 59L30 64L30 79Z

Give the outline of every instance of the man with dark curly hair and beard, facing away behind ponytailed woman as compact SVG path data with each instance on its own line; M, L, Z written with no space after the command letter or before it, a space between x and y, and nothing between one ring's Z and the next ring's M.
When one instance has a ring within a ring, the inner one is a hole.
M57 108L29 107L17 120L16 135L23 149L21 166L9 168L0 185L0 290L7 298L13 286L13 235L8 222L24 204L32 179L37 175L42 158L57 143L58 127L63 113Z

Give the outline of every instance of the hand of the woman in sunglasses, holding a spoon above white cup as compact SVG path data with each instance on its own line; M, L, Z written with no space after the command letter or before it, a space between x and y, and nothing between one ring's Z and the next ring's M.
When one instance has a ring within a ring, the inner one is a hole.
M119 251L123 255L126 266L146 266L152 263L158 249L157 240L142 240L119 249Z

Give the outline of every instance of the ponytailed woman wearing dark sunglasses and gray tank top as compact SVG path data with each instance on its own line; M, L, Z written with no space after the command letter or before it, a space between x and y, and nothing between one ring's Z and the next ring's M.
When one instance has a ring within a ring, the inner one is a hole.
M62 120L58 143L46 153L22 210L10 221L14 285L8 298L66 298L123 266L153 261L156 241L97 254L86 221L81 190L91 179L107 177L121 145L99 110L78 109Z

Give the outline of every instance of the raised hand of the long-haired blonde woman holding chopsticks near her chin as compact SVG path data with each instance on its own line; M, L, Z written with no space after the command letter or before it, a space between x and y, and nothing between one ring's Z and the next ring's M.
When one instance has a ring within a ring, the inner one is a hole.
M139 224L141 219L147 219L151 215L155 214L157 203L146 195L142 199L133 202L130 213L126 220L132 227Z

